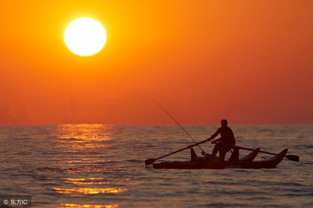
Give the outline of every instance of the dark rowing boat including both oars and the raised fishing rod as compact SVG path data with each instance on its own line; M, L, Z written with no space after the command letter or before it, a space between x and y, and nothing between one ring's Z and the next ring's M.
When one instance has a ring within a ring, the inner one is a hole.
M231 151L231 156L227 161L221 161L216 156L206 154L202 148L199 146L200 144L210 141L210 139L206 139L201 142L196 142L188 132L175 120L175 118L168 113L160 104L158 104L156 101L154 101L160 108L162 108L178 125L179 127L195 142L195 144L190 145L188 147L182 148L178 151L174 151L172 153L166 154L164 156L158 157L158 158L150 158L145 160L145 166L153 165L154 169L227 169L227 168L240 168L240 169L261 169L261 168L275 168L283 159L286 157L287 159L295 162L299 162L299 156L297 155L286 155L288 149L285 149L281 151L278 154L271 153L268 151L260 151L260 148L258 149L249 149L239 146L233 146L231 145L230 148L233 149ZM223 125L222 125L223 126ZM222 137L221 137L222 138ZM216 140L217 141L217 140ZM216 143L216 141L214 143ZM213 142L212 142L213 143ZM193 147L198 146L201 151L202 155L204 157L198 157L196 155L196 152L193 150ZM156 160L162 159L164 157L170 156L172 154L175 154L177 152L190 149L191 151L191 160L190 161L174 161L174 162L161 162L161 163L154 163ZM239 150L248 150L252 151L251 153L247 154L244 157L239 158ZM256 155L259 153L266 153L275 155L271 158L261 160L261 161L253 161ZM224 159L223 159L224 160Z

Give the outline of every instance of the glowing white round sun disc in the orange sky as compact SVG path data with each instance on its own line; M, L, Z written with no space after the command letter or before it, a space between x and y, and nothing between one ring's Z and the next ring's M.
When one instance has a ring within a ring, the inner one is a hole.
M67 48L79 56L91 56L104 46L107 34L102 24L91 18L72 21L65 30Z

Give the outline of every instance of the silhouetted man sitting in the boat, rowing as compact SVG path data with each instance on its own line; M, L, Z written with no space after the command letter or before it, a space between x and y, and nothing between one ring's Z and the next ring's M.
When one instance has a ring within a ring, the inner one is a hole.
M227 126L227 120L223 119L221 125L222 127L220 127L210 138L207 138L207 140L210 141L219 133L221 134L221 138L211 142L212 144L216 144L212 155L215 156L219 151L220 160L224 162L226 152L235 146L236 141L233 131Z

